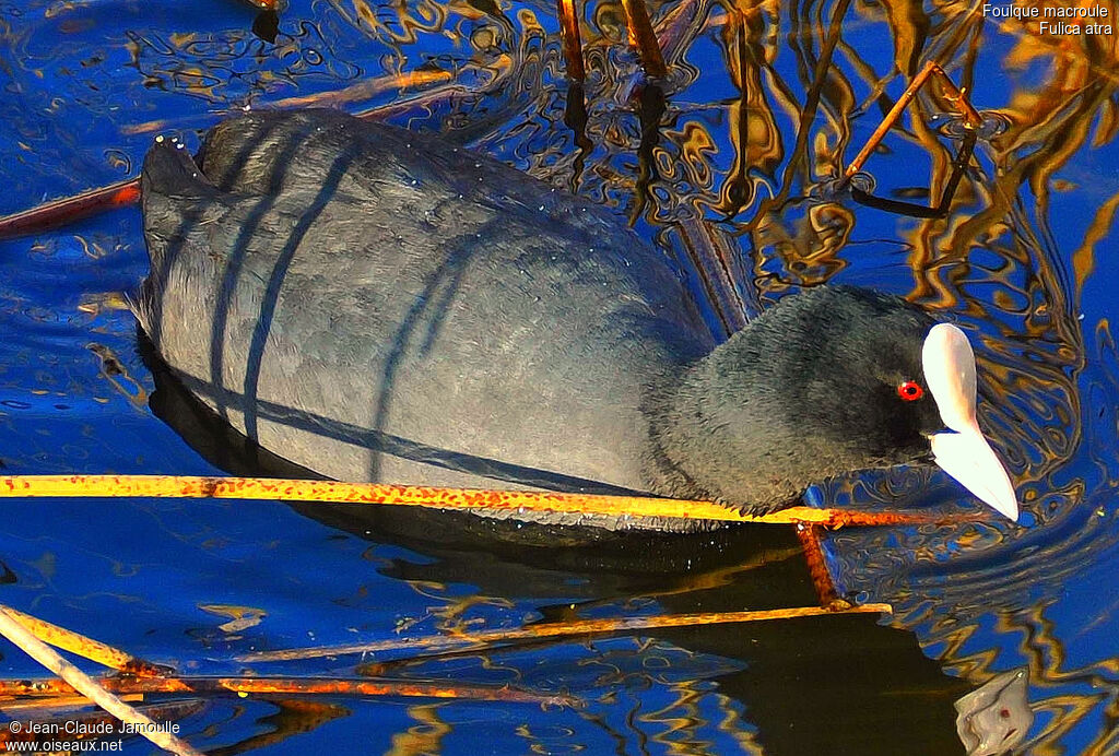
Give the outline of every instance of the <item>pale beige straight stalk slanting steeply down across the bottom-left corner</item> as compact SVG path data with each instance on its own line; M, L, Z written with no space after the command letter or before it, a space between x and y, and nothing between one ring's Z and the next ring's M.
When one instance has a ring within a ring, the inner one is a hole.
M36 637L19 620L0 606L0 635L3 635L31 659L66 681L68 689L77 691L113 715L122 722L132 725L140 735L151 740L164 750L179 756L201 756L190 744L171 733L163 731L152 719L137 711L119 699L93 678L63 659L57 651ZM153 680L158 678L137 678L137 680ZM69 690L67 690L69 692Z

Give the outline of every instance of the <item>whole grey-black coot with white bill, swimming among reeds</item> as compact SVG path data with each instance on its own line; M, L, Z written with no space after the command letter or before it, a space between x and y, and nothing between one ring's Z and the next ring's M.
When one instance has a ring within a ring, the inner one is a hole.
M197 162L157 140L142 191L144 331L234 427L321 474L764 512L933 452L1017 516L967 338L900 299L806 291L716 346L609 212L335 111L237 116Z

